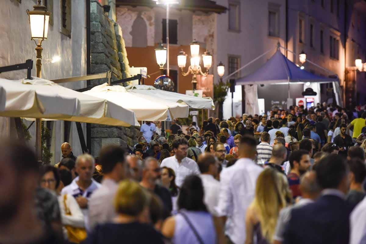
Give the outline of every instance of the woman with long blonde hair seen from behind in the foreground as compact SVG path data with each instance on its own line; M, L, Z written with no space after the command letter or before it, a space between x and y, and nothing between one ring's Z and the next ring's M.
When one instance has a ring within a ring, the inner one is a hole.
M254 200L247 210L245 244L254 243L254 236L258 244L272 243L280 210L291 199L287 179L272 168L264 169L258 176Z

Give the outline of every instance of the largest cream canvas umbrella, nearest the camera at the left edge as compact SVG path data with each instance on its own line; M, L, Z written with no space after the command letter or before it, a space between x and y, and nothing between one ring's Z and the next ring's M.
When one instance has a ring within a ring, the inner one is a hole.
M49 80L0 79L0 87L5 91L6 96L5 100L0 100L0 116L116 126L139 125L131 110L108 100L57 85Z

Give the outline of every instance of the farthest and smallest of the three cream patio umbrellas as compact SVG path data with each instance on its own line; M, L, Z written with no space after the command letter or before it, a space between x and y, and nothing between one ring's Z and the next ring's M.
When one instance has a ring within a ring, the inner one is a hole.
M191 95L180 94L171 91L164 91L156 89L153 86L146 85L131 85L126 87L127 91L133 91L135 93L150 95L153 97L169 100L172 102L178 102L181 104L187 104L190 108L197 109L215 109L215 105L210 97L194 97Z

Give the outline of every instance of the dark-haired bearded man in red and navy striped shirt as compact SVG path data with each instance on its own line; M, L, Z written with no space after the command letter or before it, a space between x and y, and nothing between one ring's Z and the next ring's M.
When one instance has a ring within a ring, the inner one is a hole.
M290 155L291 171L287 175L288 185L294 198L301 196L300 176L306 173L310 168L310 156L305 150L295 150Z

